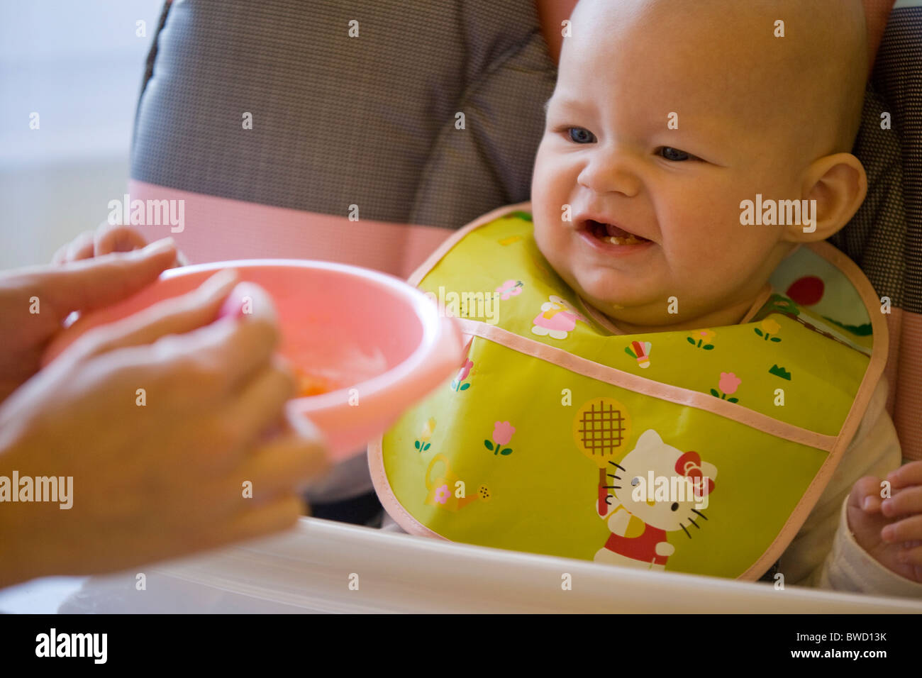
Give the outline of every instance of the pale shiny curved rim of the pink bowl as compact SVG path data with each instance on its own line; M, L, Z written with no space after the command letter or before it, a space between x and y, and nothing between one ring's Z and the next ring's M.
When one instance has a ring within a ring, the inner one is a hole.
M359 390L361 398L360 406L367 405L369 399L371 399L372 404L374 404L382 397L385 388L393 388L396 384L407 381L410 375L431 356L438 346L439 341L443 339L445 327L442 322L443 318L439 314L438 306L432 303L431 299L422 291L413 287L407 281L400 280L396 276L384 273L384 271L373 270L372 268L362 268L352 266L351 264L314 259L233 259L229 261L204 262L179 268L169 268L160 274L160 279L179 278L201 272L217 273L219 270L240 268L311 268L314 270L334 271L344 275L370 280L395 292L396 297L407 299L414 315L420 320L420 325L422 327L420 343L416 349L400 363L396 363L396 365L385 370L380 375L373 376L365 381L350 384L348 387L337 388L335 391L329 391L316 396L290 398L289 406L298 411L310 413L335 410L341 408L344 403L349 406L348 394L349 390L352 388ZM405 398L400 399L403 400Z

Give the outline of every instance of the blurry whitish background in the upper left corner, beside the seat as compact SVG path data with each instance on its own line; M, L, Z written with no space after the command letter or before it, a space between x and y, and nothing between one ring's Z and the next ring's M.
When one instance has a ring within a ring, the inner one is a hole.
M106 204L124 193L162 6L0 0L0 268L48 261L105 220ZM138 20L146 37L136 35Z

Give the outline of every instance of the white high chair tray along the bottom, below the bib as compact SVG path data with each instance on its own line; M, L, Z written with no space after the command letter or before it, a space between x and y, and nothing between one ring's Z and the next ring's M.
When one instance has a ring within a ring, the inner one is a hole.
M644 572L303 517L281 537L92 577L59 612L922 613L922 601Z

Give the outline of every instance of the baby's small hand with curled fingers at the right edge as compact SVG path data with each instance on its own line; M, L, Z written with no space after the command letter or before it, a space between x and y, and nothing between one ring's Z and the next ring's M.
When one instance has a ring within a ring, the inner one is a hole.
M881 498L881 479L867 476L848 495L848 528L881 565L922 583L922 460L887 474L891 497Z

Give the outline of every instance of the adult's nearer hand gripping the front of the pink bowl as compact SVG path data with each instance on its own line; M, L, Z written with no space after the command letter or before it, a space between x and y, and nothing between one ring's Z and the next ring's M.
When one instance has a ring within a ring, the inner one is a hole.
M0 406L0 475L73 478L68 509L0 504L0 586L122 570L302 514L328 462L310 424L283 420L294 383L273 358L266 293L248 286L254 313L215 320L234 283L219 274L88 331Z

